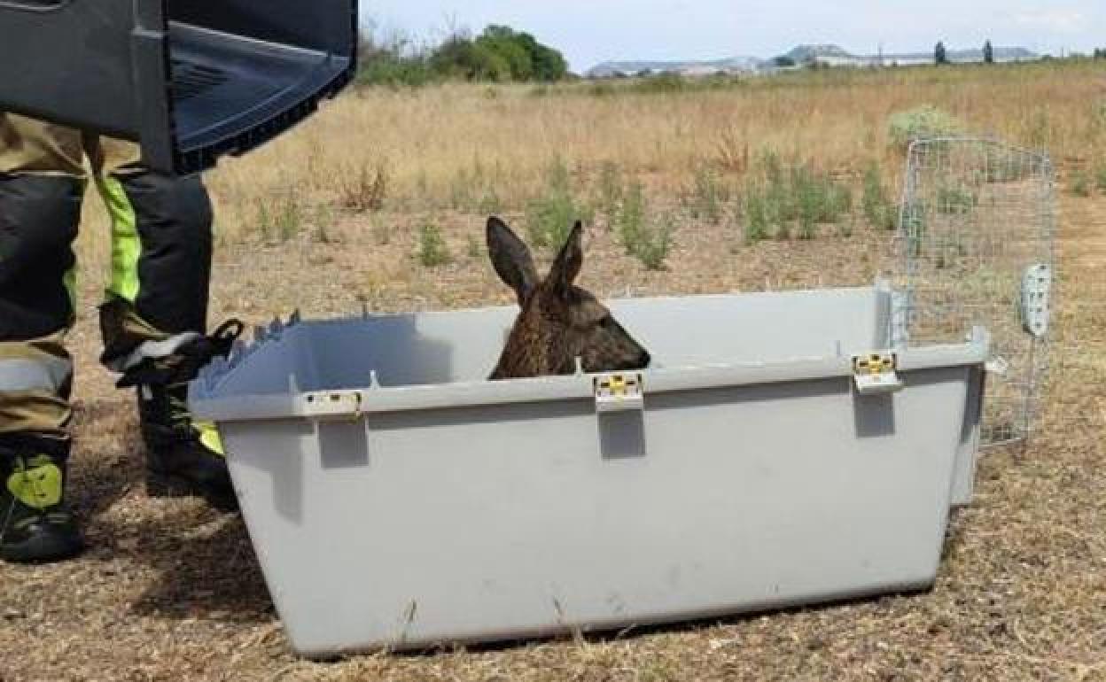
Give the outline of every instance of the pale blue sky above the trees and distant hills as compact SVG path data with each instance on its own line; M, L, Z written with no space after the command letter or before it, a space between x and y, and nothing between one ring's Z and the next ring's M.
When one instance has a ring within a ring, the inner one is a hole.
M800 43L858 54L1024 46L1106 46L1106 0L362 0L387 30L437 38L505 23L564 52L574 71L607 60L771 57Z

